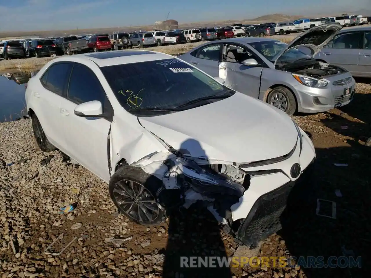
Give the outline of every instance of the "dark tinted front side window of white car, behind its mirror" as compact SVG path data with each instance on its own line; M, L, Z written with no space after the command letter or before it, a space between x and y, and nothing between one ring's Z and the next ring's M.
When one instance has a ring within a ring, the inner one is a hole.
M82 64L75 64L68 86L67 98L76 104L99 100L104 105L105 93L95 74Z

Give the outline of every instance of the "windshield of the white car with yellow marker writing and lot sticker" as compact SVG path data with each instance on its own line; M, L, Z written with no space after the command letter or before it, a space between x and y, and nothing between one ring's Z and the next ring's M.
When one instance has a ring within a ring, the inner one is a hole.
M121 106L136 116L187 110L235 93L175 58L119 64L101 70ZM195 102L198 99L201 101Z

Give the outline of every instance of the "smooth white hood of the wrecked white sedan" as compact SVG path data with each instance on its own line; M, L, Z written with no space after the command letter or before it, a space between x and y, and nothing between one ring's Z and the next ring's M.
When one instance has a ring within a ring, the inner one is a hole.
M145 129L194 158L254 162L288 154L298 132L285 112L236 92L214 103L154 117Z

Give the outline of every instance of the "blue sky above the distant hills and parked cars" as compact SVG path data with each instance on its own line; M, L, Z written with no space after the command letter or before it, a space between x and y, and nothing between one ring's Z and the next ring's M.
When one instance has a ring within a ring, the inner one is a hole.
M336 14L369 5L370 0L0 0L0 31L148 25L164 20L169 11L169 19L187 23L251 19L272 13Z

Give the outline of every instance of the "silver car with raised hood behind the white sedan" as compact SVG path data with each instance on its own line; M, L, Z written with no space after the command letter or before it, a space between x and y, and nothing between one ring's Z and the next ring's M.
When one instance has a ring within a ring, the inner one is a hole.
M265 38L220 40L178 58L289 115L324 112L347 105L355 93L355 80L348 70L313 58L340 29L339 24L322 24L290 44ZM303 46L312 54L297 49Z

